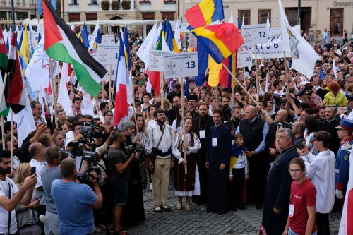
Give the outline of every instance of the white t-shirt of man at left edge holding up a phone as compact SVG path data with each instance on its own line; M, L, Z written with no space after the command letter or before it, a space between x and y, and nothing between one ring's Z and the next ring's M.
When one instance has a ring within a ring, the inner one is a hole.
M18 188L15 183L9 178L6 177L6 181L0 181L0 197L8 198L8 183L10 183L11 188L11 198L13 197L13 193L18 192ZM7 234L8 231L8 210L4 207L0 206L0 234ZM10 234L14 234L17 231L17 221L16 221L16 212L15 210L11 210L11 227Z

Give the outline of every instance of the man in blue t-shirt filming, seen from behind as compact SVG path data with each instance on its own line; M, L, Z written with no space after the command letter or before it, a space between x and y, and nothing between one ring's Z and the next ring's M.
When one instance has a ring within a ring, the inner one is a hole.
M64 159L60 164L60 172L62 179L55 179L52 183L52 198L59 217L59 233L92 234L95 229L92 208L99 209L103 203L97 172L90 172L92 188L76 183L75 159Z

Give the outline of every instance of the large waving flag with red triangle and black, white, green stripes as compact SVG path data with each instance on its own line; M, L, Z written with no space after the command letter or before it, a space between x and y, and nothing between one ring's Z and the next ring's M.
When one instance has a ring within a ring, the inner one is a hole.
M71 28L56 13L47 0L43 0L44 49L48 56L73 65L78 83L97 97L102 90L103 76L107 71L88 53Z

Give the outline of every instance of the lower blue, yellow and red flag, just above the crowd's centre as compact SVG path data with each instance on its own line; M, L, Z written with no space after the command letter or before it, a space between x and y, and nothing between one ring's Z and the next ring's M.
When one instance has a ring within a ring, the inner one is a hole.
M244 44L239 30L231 23L222 23L220 25L210 25L189 30L195 35L207 49L208 54L220 64L228 58L233 52Z

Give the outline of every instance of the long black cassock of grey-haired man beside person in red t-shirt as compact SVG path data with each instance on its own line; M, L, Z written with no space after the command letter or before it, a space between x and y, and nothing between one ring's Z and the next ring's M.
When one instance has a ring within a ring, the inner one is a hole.
M263 206L263 227L270 235L282 235L285 231L289 212L290 185L292 177L289 174L289 162L294 157L299 157L294 147L283 150L275 159L266 183L265 203ZM276 215L273 207L281 210Z

